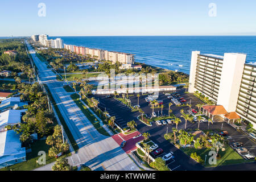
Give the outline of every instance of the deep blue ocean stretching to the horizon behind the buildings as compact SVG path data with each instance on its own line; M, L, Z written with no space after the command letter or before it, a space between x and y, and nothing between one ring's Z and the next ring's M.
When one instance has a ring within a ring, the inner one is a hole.
M58 37L51 37L53 39ZM256 36L60 36L64 44L135 54L135 60L189 74L191 52L247 55L256 62Z

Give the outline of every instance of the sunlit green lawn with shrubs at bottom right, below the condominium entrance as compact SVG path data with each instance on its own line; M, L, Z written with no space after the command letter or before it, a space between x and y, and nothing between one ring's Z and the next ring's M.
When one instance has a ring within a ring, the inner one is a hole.
M183 151L185 154L190 156L193 152L196 152L197 155L200 155L201 159L205 160L205 155L207 155L206 164L203 164L205 167L216 167L216 166L224 166L224 165L230 165L230 164L240 164L245 162L251 162L252 160L245 160L243 159L239 154L237 154L236 151L234 151L230 146L225 147L225 151L219 151L218 154L221 155L221 159L217 160L216 164L210 165L208 163L210 156L208 148L201 148L196 149L193 147L187 147L183 148L181 147L180 150Z

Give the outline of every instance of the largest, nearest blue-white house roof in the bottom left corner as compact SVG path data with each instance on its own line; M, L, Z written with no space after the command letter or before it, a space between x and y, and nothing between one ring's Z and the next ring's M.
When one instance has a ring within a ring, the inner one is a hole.
M14 130L0 133L0 164L18 158L26 158L26 148L21 147L19 135Z

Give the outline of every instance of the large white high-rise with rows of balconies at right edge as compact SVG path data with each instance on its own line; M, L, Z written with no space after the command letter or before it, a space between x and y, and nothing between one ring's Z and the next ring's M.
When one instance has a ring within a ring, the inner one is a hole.
M255 128L256 68L255 65L245 64L245 60L246 55L242 53L218 56L193 51L189 92L204 94L215 104L224 106L229 113L236 111Z

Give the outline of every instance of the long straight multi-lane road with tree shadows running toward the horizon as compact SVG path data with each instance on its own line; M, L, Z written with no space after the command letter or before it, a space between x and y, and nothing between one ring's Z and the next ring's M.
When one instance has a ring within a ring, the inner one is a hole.
M48 85L73 138L79 145L79 151L69 160L72 160L74 165L85 164L92 170L140 170L112 137L98 133L69 96L69 93L65 92L63 82L56 80L55 73L36 57L35 51L30 45L28 45L28 49L39 69L42 82Z

